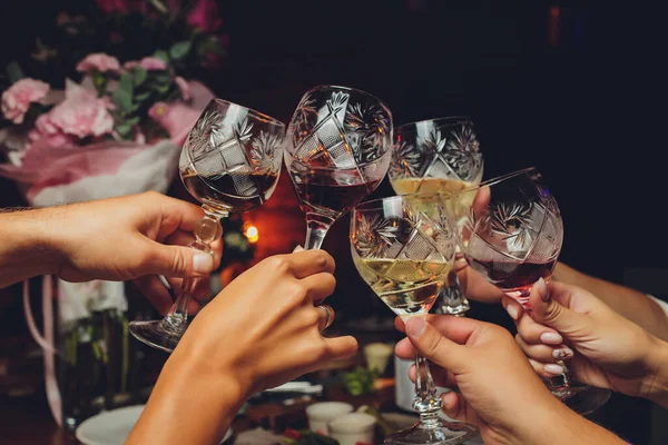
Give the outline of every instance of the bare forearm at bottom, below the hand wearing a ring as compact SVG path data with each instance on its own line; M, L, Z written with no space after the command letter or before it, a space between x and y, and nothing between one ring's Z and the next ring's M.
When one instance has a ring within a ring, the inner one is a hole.
M177 352L165 364L127 445L218 445L245 402L234 375L199 366Z

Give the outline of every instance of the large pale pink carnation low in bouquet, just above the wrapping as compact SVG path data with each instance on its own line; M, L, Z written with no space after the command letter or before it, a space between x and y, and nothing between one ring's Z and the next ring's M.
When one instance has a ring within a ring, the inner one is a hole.
M100 99L94 91L69 82L65 101L50 112L51 122L66 135L79 138L111 132L114 118L107 110L108 100Z

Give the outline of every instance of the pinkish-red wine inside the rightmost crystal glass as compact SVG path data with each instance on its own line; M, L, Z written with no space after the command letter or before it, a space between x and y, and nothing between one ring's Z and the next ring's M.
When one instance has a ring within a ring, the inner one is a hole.
M507 295L527 304L533 284L539 278L548 281L552 276L557 258L546 263L492 261L470 258L469 263L474 270L488 277Z

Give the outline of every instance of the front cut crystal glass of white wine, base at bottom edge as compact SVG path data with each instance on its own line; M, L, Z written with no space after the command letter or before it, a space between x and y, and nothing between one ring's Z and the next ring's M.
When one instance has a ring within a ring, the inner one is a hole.
M363 202L351 216L351 253L360 275L394 314L426 317L453 266L455 234L442 195L416 194ZM415 352L414 408L420 421L386 444L459 444L478 434L439 416L441 398L429 363Z

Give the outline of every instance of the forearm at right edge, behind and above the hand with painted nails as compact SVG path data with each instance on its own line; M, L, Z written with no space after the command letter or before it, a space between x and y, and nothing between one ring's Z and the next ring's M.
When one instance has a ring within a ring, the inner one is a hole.
M589 290L618 314L652 335L668 340L668 317L664 309L645 294L582 274L562 263L557 264L553 279Z

